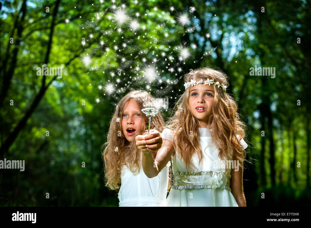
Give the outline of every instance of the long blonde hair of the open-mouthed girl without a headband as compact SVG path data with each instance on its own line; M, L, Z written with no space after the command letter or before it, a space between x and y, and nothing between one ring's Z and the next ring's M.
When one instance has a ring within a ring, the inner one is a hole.
M133 134L132 142L129 142L122 131L122 114L125 106L131 99L137 101L142 117L142 125L141 128ZM146 91L133 90L128 92L128 94L118 102L117 108L110 121L107 142L102 145L101 151L103 151L105 186L108 186L111 190L118 190L120 188L123 165L130 168L131 172L140 172L140 153L142 152L136 146L135 137L148 132L148 117L141 111L143 108L149 107L147 105L150 105L148 102L145 102L146 99L151 102L155 101L150 93ZM121 120L119 123L116 121L117 118ZM164 129L164 120L160 112L151 118L150 129L156 129L162 133ZM116 147L118 147L118 151L114 151Z

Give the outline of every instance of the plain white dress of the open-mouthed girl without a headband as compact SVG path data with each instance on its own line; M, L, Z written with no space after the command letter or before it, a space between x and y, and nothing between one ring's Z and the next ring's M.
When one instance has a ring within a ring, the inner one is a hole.
M142 153L140 154L142 159ZM118 193L119 207L163 207L169 184L170 162L158 176L149 178L142 167L139 172L131 172L123 166L121 186Z

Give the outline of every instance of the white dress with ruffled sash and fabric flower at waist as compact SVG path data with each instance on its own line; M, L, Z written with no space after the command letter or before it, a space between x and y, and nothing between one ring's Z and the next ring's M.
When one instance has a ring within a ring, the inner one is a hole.
M178 151L174 154L172 158L174 184L170 189L165 206L238 207L231 193L231 174L228 174L229 180L225 178L223 173L225 172L225 162L219 158L219 150L216 148L216 145L211 143L211 131L211 129L207 128L198 128L202 160L199 164L197 154L193 155L192 161L195 167L191 172L188 172L185 163L179 158ZM170 129L164 129L161 135L163 139L173 141L174 132ZM237 138L245 149L248 145L244 139L240 139L239 135L237 135ZM174 139L174 142L176 142L176 139ZM230 152L232 155L232 151Z

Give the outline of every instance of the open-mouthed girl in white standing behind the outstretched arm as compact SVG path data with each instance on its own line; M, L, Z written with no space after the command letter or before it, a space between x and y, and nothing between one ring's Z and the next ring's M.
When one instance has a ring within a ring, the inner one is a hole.
M102 149L104 158L105 185L111 190L118 190L119 206L163 206L169 184L169 166L167 163L155 177L148 178L142 171L142 152L135 145L135 136L146 132L148 118L142 113L146 99L154 98L146 91L131 91L117 105L110 122L107 142ZM148 137L160 135L164 120L160 114L152 117ZM148 138L147 137L147 138ZM152 149L152 155L161 147L162 139L157 142L158 148ZM149 152L151 153L149 150ZM121 186L120 186L121 184Z

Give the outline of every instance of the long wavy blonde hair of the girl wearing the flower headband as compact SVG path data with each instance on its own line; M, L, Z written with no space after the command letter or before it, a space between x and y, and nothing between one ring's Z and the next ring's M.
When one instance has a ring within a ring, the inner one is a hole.
M214 82L223 83L225 86L228 86L229 79L223 72L208 67L192 70L185 74L184 77L185 83L190 82L191 79L196 81L203 79L203 81L206 81L208 78L214 79ZM234 98L223 91L221 87L214 86L214 89L215 96L212 114L209 118L209 126L212 129L212 141L220 151L219 157L221 160L223 160L223 157L227 160L237 159L239 167L244 171L243 162L246 152L241 147L236 135L238 134L241 138L245 136L244 127L246 127L246 124L240 121L239 114L237 113L238 104L234 101ZM199 121L190 111L189 96L190 89L186 89L175 104L172 115L166 123L166 128L174 132L174 138L176 139L174 150L178 151L178 155L185 162L187 170L192 171L193 163L191 157L196 153L199 157L199 162L201 162L202 151L198 140ZM190 131L193 132L192 136L189 134ZM229 150L233 152L232 157L228 152ZM225 175L227 173L226 166Z

